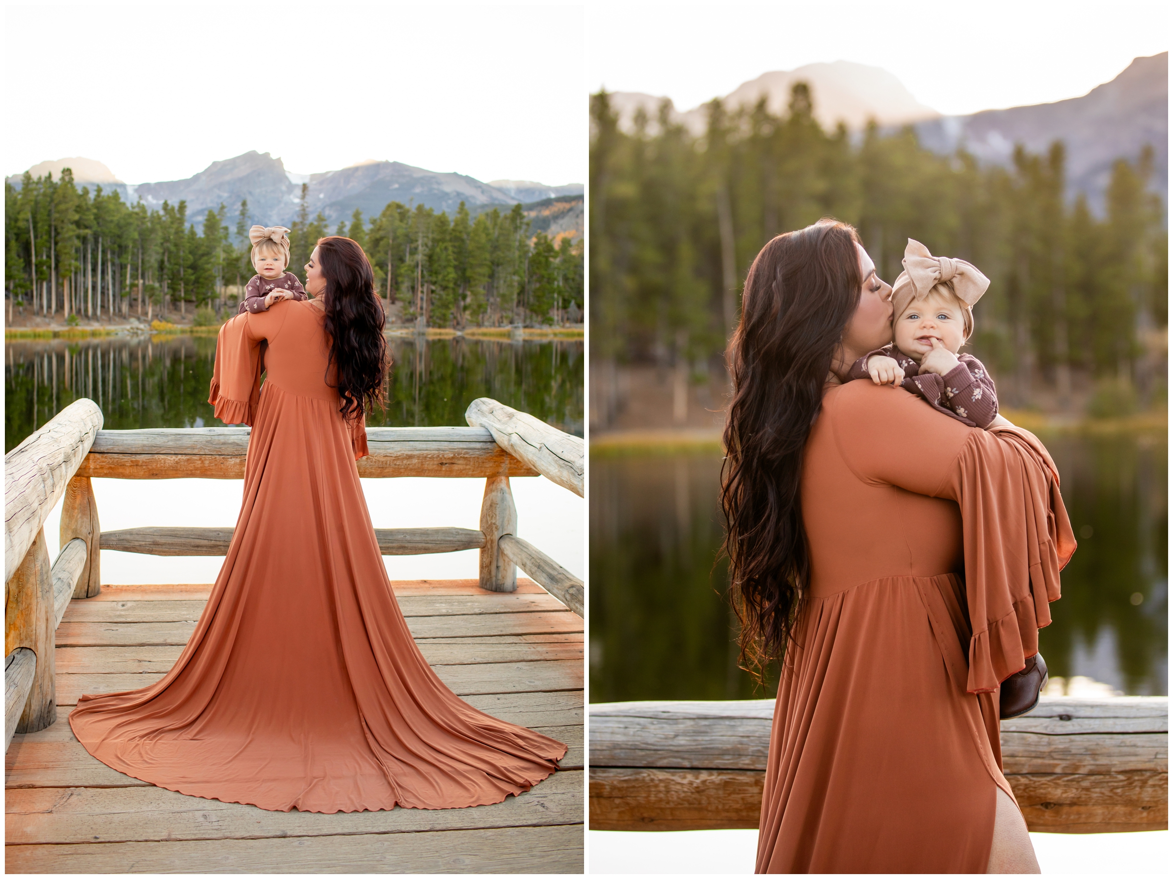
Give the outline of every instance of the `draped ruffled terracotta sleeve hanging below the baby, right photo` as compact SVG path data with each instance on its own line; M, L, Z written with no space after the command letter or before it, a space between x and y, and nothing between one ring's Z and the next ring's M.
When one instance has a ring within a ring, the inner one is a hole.
M974 431L942 494L961 507L972 631L965 689L990 692L1038 653L1076 540L1055 462L1029 431Z

